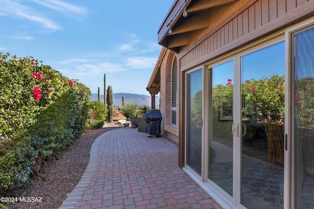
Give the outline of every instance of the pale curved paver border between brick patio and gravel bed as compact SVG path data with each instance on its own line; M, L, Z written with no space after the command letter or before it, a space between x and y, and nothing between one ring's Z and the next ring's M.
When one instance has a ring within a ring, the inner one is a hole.
M111 131L117 131L119 129L111 130ZM71 191L70 194L67 194L67 198L63 201L62 205L59 207L59 209L73 209L77 204L78 201L83 196L85 190L91 183L96 168L98 164L98 147L99 143L101 142L101 139L111 131L107 131L103 133L102 135L98 136L95 141L93 142L90 152L89 152L89 162L87 164L87 167L79 180L78 184L75 186L75 188Z

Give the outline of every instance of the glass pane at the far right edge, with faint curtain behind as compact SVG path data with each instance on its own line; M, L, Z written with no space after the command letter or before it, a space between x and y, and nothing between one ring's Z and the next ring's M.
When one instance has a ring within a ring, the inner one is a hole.
M314 208L314 28L293 34L294 66L292 148L294 171L291 191L294 208ZM294 194L293 194L294 192Z

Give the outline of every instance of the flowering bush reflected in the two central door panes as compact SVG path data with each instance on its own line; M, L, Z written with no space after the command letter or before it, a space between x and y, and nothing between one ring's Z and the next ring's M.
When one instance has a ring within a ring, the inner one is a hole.
M234 86L228 79L226 85L213 87L213 108L219 112L221 104L233 108ZM281 121L285 110L285 77L273 75L259 80L245 80L241 84L242 120L244 121ZM231 110L227 110L232 112Z

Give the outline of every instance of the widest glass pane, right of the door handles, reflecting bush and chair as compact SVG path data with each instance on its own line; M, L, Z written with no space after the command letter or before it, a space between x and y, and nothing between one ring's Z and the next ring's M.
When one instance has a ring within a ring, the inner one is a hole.
M284 205L284 42L241 56L241 204Z

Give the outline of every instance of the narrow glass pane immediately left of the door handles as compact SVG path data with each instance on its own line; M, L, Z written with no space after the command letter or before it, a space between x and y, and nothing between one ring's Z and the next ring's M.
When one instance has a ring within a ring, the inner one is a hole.
M215 66L211 72L211 122L208 178L233 195L234 62Z

